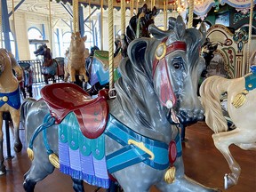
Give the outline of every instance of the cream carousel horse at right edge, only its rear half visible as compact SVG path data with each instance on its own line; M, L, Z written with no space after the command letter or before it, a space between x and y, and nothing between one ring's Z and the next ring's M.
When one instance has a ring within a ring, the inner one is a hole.
M241 168L228 147L235 144L244 150L256 149L256 66L252 73L236 79L221 76L206 78L200 87L201 102L205 109L205 122L214 132L214 145L228 162L231 173L224 177L225 189L237 184ZM236 129L228 131L227 119L223 116L220 96L228 92L228 114Z

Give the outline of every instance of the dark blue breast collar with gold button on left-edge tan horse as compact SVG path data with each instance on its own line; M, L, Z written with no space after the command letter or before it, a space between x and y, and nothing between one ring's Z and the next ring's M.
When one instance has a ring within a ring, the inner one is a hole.
M0 108L7 103L9 106L15 109L20 108L20 89L14 92L0 92Z

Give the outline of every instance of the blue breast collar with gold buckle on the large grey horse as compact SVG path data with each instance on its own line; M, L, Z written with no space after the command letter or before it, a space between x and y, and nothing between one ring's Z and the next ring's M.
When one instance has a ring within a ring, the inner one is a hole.
M134 132L132 129L119 122L114 116L108 116L108 124L104 133L124 147L106 156L109 173L117 172L125 167L140 162L157 170L164 170L170 166L168 156L169 146L166 143L159 140L152 140ZM177 157L179 157L182 152L179 133L175 138L175 142ZM138 143L142 144L151 153L138 147ZM152 158L152 154L154 158Z

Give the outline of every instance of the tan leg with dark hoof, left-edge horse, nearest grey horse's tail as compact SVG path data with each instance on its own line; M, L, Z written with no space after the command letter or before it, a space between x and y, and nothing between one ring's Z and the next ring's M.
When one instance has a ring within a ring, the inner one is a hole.
M13 128L14 128L14 150L15 152L20 152L22 149L22 143L20 141L20 109L15 108L10 109L10 114L12 116Z

